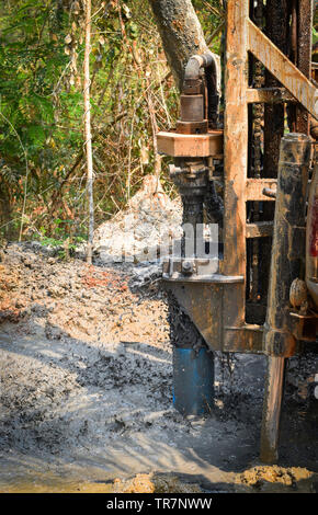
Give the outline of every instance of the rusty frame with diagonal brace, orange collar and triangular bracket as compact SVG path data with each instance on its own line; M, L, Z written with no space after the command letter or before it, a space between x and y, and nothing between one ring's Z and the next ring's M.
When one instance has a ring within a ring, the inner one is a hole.
M208 286L203 283L200 286L200 282L193 285L186 278L184 285L181 279L180 284L173 284L172 278L166 277L164 281L169 282L170 289L209 346L225 352L260 352L263 328L246 323L247 240L270 237L273 232L273 221L247 222L247 202L273 202L276 191L275 179L248 178L249 104L291 102L303 110L302 116L307 110L318 117L318 90L257 27L249 13L249 0L228 0L224 138L222 131L216 130L202 135L175 131L158 135L158 151L175 158L219 159L224 153L224 259L219 262L219 277L223 281L211 281ZM249 53L284 88L250 88ZM239 277L240 281L230 284L227 278L231 277ZM220 287L219 283L225 284ZM205 291L205 308L198 294L200 287ZM196 305L201 309L196 309ZM207 320L211 321L209 329Z

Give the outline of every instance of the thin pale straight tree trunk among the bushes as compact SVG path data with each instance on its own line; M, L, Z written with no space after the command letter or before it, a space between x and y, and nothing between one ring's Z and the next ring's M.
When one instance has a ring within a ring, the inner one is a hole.
M93 156L91 133L90 102L90 53L91 53L91 0L86 1L86 50L84 50L84 136L87 150L87 188L89 198L89 240L87 262L92 263L92 247L94 234L94 201L93 201Z

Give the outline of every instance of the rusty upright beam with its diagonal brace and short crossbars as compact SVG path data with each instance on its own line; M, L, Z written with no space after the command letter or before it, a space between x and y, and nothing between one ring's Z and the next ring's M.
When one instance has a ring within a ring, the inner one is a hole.
M246 323L246 240L269 237L273 222L247 224L248 201L273 201L265 190L275 190L275 180L247 179L248 104L299 102L318 118L318 90L308 78L250 20L248 0L228 0L225 111L225 217L222 273L242 275L236 291L225 288L228 323L224 327L224 350L246 352L250 325ZM248 85L249 53L253 54L284 88L257 90ZM306 70L304 70L306 71ZM262 330L261 327L258 328ZM257 331L258 331L257 330ZM239 336L238 336L239 334ZM258 341L258 339L257 339ZM253 346L253 345L251 345ZM259 345L255 342L255 352Z

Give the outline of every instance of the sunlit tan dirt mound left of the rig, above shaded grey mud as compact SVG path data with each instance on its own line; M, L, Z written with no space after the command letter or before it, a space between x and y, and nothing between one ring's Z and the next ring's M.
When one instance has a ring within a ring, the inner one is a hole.
M162 295L132 293L134 276L134 267L88 266L12 244L0 270L0 321L24 321L29 331L27 325L42 319L50 340L160 345L168 335Z

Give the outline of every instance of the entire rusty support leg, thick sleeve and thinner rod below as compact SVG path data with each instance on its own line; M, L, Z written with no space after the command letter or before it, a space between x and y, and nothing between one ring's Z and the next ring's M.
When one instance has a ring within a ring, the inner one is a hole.
M268 314L263 351L269 355L261 435L261 459L277 459L285 358L296 340L289 320L289 288L299 277L305 258L306 188L310 138L288 134L281 141Z

